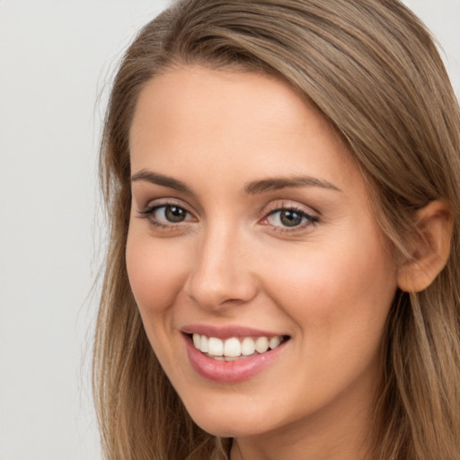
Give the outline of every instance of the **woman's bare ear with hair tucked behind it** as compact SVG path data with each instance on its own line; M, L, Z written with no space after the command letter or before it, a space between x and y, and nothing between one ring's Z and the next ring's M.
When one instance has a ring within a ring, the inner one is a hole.
M417 234L412 258L398 269L398 287L404 292L420 292L446 266L452 236L452 211L446 201L431 201L416 213Z

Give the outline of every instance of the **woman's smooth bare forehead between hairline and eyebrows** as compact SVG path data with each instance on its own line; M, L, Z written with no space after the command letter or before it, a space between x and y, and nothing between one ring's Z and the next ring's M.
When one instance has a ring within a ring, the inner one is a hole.
M199 66L155 76L130 130L132 172L210 181L314 175L343 186L358 173L323 115L269 75ZM186 168L184 168L186 166ZM327 177L324 177L327 176Z

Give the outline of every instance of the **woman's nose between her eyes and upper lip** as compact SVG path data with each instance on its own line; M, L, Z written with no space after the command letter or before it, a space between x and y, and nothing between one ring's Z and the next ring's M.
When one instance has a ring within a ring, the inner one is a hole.
M197 244L185 292L202 308L225 309L252 300L258 286L249 242L231 229L216 228Z

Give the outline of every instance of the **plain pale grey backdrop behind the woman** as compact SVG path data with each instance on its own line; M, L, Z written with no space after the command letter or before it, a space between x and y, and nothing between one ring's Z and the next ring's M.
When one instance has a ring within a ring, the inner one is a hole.
M458 96L460 0L405 3L445 49ZM122 49L164 4L0 0L0 460L100 458L100 122Z

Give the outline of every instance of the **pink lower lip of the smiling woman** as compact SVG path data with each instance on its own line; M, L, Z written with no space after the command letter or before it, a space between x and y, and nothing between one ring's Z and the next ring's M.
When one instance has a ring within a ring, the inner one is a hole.
M285 348L287 343L283 342L276 349L270 349L270 351L249 358L220 361L208 358L199 349L196 349L188 335L184 335L183 337L191 366L200 376L224 384L243 382L259 374L279 357L279 353Z

